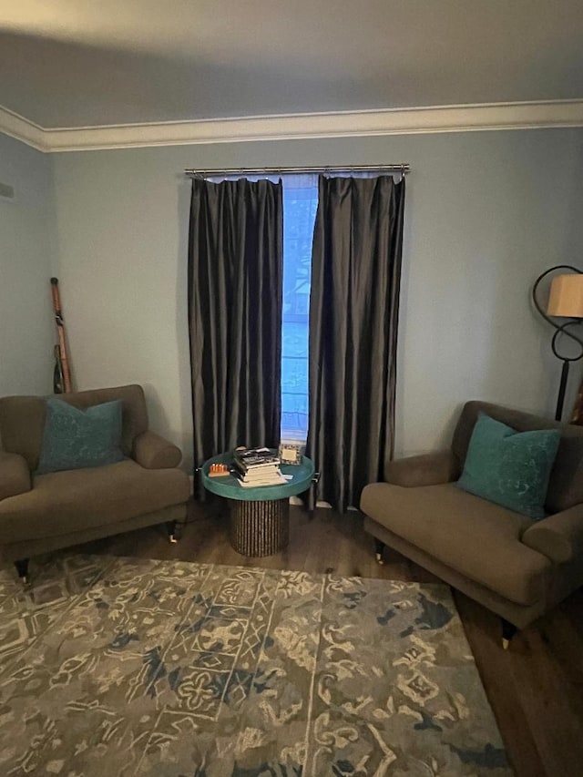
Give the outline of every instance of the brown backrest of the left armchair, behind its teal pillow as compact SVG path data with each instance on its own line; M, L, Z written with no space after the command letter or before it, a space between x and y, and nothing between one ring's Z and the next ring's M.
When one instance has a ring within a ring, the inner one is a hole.
M120 400L122 403L122 450L131 455L134 439L148 429L148 412L141 386L58 394L58 399L85 410L95 404ZM38 466L46 418L46 398L42 396L5 396L0 398L0 439L10 453L26 458L31 471Z

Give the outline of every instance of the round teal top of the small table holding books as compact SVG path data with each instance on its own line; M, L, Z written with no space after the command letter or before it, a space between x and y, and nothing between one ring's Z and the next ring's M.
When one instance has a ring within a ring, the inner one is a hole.
M209 468L212 464L231 465L232 454L220 454L213 456L202 465L202 483L207 491L227 499L240 499L243 502L269 502L271 499L287 499L289 496L302 494L312 484L314 466L312 459L302 456L301 464L280 465L281 475L292 475L292 480L278 486L256 486L244 488L233 475L209 477Z

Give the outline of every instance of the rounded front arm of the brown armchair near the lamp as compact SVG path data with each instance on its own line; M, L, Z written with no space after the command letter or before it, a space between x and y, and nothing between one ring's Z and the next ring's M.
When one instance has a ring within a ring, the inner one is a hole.
M521 540L557 564L577 557L583 563L583 505L537 521L527 528Z

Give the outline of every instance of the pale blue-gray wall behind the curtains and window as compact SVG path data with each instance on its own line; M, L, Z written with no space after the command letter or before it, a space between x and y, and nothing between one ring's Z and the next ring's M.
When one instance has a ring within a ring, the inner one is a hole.
M583 266L583 130L271 141L56 155L58 274L79 389L144 384L190 466L184 168L409 162L397 454L445 445L468 398L552 414L560 364L529 292ZM572 373L568 404L580 379Z

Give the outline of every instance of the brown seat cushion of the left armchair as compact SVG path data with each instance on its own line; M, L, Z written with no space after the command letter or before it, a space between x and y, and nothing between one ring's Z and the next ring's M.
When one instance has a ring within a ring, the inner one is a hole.
M0 502L0 543L55 537L117 524L189 498L179 469L144 469L133 460L38 475L26 494Z

